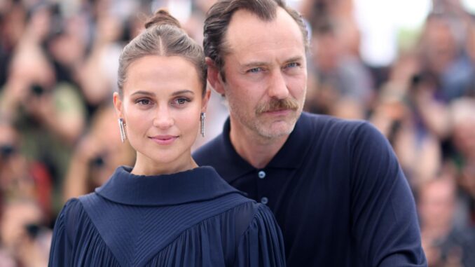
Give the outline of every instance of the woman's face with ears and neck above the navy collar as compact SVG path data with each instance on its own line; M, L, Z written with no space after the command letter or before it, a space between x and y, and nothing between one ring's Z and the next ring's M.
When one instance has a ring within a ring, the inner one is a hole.
M195 67L183 57L148 55L132 62L123 97L115 93L113 100L137 151L134 169L186 169L208 98L209 93L202 97Z

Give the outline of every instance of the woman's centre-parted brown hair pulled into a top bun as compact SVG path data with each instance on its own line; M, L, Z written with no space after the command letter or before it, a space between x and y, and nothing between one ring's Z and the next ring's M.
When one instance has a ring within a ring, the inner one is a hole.
M207 67L202 47L181 29L179 21L165 9L158 9L145 22L145 30L123 48L119 57L117 81L120 95L130 64L147 55L179 56L191 62L198 72L202 95L205 95Z

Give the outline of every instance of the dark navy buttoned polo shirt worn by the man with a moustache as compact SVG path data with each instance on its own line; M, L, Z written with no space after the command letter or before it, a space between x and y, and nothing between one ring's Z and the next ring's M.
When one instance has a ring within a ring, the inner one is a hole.
M270 207L287 266L427 266L415 203L387 139L365 121L306 114L262 169L223 133L195 153Z

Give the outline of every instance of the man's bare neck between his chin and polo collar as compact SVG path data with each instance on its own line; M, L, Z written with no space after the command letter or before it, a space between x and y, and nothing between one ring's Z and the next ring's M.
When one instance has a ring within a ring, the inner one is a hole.
M258 169L266 167L289 138L289 135L275 138L261 137L251 130L236 125L233 127L233 121L230 125L229 138L235 151Z

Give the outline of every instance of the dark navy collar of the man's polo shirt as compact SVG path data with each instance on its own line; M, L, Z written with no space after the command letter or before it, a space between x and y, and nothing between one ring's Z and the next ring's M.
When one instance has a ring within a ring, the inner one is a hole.
M300 118L298 118L294 130L284 143L284 146L282 146L274 158L270 160L268 165L264 168L298 168L303 162L310 148L310 144L312 144L312 138L314 138L310 131L311 128L310 115L303 112ZM224 156L226 160L220 160L223 164L216 166L216 169L219 170L219 173L221 173L223 177L226 177L228 182L256 170L255 167L250 165L235 151L233 144L231 144L229 133L230 121L228 118L224 123L223 133L221 135L222 156Z

